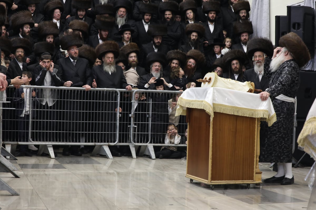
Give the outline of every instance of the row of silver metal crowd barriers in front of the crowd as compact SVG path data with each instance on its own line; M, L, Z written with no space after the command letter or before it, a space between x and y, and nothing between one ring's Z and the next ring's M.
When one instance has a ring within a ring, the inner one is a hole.
M34 91L35 97L22 99L22 89L29 91L24 95ZM93 155L107 156L109 145L130 146L135 158L135 146L165 145L168 124L175 124L178 134L184 137L185 116L174 116L177 106L171 115L168 113L168 105L172 106L179 94L108 88L85 91L54 86L8 87L6 97L1 98L9 102L4 104L2 140L5 145L96 145ZM47 101L46 96L51 99ZM29 103L27 113L23 113L23 101ZM52 147L48 150L52 151Z

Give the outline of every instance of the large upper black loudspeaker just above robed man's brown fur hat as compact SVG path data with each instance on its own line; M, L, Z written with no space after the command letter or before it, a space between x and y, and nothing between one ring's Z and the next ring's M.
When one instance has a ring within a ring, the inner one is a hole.
M315 48L315 11L306 6L288 6L288 32L301 37L308 50L314 53Z

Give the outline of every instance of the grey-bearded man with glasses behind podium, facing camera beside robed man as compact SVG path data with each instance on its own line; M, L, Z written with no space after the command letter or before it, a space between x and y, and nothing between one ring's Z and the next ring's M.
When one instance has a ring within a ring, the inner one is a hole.
M256 89L265 91L268 88L269 81L264 76L264 59L272 57L272 55L273 45L269 39L256 37L250 40L247 47L247 56L249 60L253 61L253 68L244 72L242 82L253 82Z

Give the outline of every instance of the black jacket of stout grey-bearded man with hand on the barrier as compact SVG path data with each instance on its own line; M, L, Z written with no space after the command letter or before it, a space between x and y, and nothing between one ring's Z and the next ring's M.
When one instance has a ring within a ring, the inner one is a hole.
M109 74L103 70L103 65L92 68L93 79L97 83L97 88L125 89L128 85L121 66L116 65L116 72Z

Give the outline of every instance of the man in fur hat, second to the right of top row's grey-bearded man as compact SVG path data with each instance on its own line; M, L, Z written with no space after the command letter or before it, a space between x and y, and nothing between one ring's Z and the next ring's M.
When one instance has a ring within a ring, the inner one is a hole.
M169 50L178 49L179 40L182 35L181 24L175 21L175 13L179 11L179 4L174 1L162 2L159 4L159 12L164 14L160 24L167 26L167 35L163 37L165 45Z

